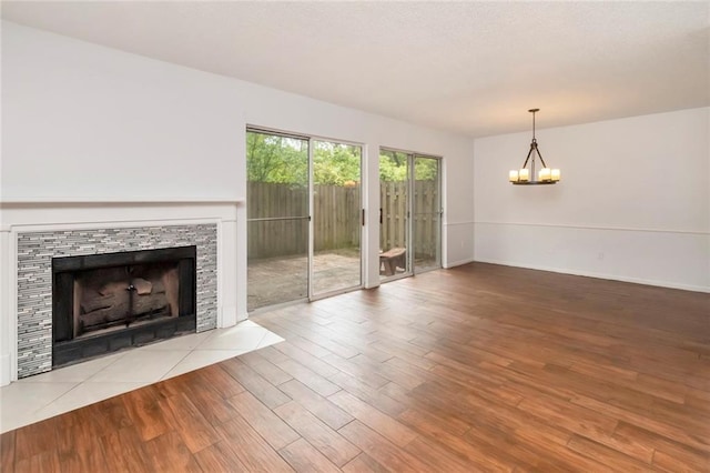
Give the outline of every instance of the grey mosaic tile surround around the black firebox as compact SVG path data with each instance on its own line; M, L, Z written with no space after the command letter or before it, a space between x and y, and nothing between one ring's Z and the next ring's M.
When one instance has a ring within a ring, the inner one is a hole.
M217 323L217 225L22 232L17 241L18 378L52 369L52 259L196 246L196 332Z

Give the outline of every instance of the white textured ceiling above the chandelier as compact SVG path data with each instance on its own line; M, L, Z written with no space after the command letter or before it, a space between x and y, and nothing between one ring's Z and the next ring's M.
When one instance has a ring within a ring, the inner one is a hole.
M2 18L473 137L710 104L710 3L2 2Z

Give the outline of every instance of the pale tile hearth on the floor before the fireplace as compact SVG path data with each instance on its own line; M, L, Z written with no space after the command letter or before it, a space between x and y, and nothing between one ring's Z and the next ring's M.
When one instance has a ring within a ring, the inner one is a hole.
M246 320L24 378L0 388L0 433L283 340Z

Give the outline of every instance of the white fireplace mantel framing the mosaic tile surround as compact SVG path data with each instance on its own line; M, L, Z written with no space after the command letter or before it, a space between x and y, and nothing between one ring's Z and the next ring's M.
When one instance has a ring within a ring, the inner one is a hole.
M0 385L18 379L18 235L28 232L214 223L217 326L246 319L242 198L3 198L0 200ZM239 282L239 284L237 284Z

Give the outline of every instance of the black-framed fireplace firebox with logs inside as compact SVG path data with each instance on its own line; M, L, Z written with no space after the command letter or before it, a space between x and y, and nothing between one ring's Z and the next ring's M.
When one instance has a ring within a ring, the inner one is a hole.
M196 331L196 246L52 258L52 366Z

